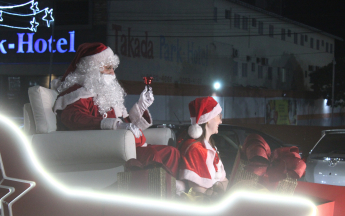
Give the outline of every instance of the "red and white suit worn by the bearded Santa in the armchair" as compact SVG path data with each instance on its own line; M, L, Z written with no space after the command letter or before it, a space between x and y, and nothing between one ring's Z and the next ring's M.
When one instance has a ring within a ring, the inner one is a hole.
M76 84L59 94L54 112L57 113L58 130L100 130L102 115L98 106L94 104L93 97L84 87ZM118 115L116 116L117 113ZM130 110L115 110L107 112L107 118L122 117L125 122L135 122L141 130L152 125L151 114L148 110L142 116L139 114L138 105ZM135 138L137 160L143 166L159 163L171 175L176 177L180 159L179 151L171 146L146 144L144 134Z

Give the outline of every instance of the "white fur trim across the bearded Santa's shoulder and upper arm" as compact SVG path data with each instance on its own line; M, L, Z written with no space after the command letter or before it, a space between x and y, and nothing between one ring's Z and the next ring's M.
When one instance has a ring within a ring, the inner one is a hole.
M60 96L56 99L53 107L54 113L56 113L57 110L64 110L68 105L76 102L81 98L90 98L94 96L96 96L96 94L87 91L86 88L78 88L77 90Z

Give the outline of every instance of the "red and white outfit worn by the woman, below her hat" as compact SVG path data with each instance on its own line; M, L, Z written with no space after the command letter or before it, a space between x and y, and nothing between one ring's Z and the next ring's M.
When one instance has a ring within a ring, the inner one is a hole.
M206 140L203 144L188 139L182 144L180 153L180 180L188 180L201 187L210 188L214 183L226 179L224 166L216 149Z

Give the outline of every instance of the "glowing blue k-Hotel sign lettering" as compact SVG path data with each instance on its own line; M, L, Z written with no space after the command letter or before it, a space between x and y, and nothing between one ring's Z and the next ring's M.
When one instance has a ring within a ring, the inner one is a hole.
M17 53L75 52L75 31L70 31L68 33L69 41L66 38L53 39L52 36L48 39L38 38L35 40L35 33L17 33L17 43L7 42L7 40L0 39L0 53L7 54L8 50L16 49L16 47ZM53 49L53 47L56 49Z

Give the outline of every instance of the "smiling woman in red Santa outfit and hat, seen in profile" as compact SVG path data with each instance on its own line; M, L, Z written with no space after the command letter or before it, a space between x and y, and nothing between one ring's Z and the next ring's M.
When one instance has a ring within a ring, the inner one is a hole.
M193 191L214 195L226 190L228 180L217 148L211 138L222 123L222 108L212 97L197 98L189 103L192 125L189 139L179 147L179 179Z

